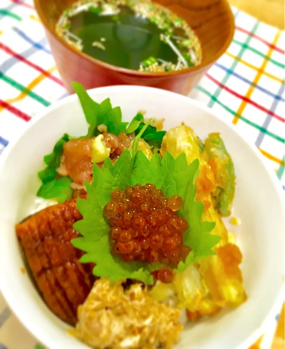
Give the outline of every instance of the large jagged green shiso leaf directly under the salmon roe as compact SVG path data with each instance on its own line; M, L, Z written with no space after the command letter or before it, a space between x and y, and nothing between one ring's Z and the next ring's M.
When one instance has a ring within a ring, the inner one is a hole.
M143 129L141 131L144 132ZM112 191L124 190L136 183L153 183L166 196L178 194L183 199L183 206L178 213L188 221L189 229L184 233L184 244L192 251L184 263L179 263L176 272L182 272L196 260L213 255L212 248L220 237L210 234L215 223L201 222L204 206L195 201L194 186L198 166L198 159L188 166L185 154L174 159L165 153L162 160L158 154L154 154L149 161L141 151L132 155L128 150L122 153L114 165L110 159L106 159L101 170L94 165L94 181L92 184L86 183L87 199L77 200L83 219L76 222L74 228L82 237L73 239L72 244L86 252L80 261L95 263L94 275L109 277L111 282L129 278L152 284L151 263L124 262L111 254L110 227L103 217L103 208L110 201Z

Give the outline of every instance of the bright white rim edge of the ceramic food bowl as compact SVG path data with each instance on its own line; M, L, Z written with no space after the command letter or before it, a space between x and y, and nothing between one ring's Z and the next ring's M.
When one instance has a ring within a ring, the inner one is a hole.
M138 86L138 85L116 85L116 86L105 86L105 87L99 87L99 88L94 88L94 89L89 89L87 90L88 94L92 95L93 92L103 92L103 91L116 91L117 89L124 89L124 90L128 90L129 88L131 88L132 90L138 90L140 92L146 91L146 90L153 90L153 93L156 94L161 94L164 95L166 98L167 96L170 95L176 95L176 98L181 99L182 101L190 101L189 105L195 105L196 107L200 108L201 110L210 113L214 118L219 119L221 122L223 122L224 124L226 124L228 127L230 127L232 129L233 132L236 133L236 135L247 144L248 147L251 148L251 150L255 153L255 155L259 158L259 160L263 163L264 165L264 169L267 171L267 173L270 176L270 179L272 181L272 184L274 185L279 198L281 199L280 202L282 203L282 208L283 211L285 212L285 195L284 195L284 191L282 188L282 185L280 183L280 181L278 180L276 174L274 173L273 170L270 170L267 168L266 163L264 162L264 157L262 156L262 154L260 153L260 151L255 147L255 145L253 143L248 142L247 140L245 140L242 135L240 135L235 126L232 125L230 122L226 122L224 121L216 112L214 112L211 108L209 108L207 105L196 101L195 99L189 98L187 96L183 96L180 94L177 94L175 92L171 92L171 91L167 91L167 90L163 90L163 89L159 89L159 88L154 88L154 87L146 87L146 86ZM9 156L9 153L11 151L11 149L15 146L15 144L19 141L19 139L23 136L23 134L27 131L27 129L29 129L30 127L32 127L32 125L34 125L35 123L37 123L42 117L45 116L45 114L47 114L48 112L53 111L54 109L57 109L57 107L64 105L70 101L74 101L76 100L78 97L76 94L64 97L62 99L60 99L59 101L56 101L55 103L52 103L51 105L49 105L48 107L46 107L45 109L43 109L42 111L40 111L39 113L37 113L35 116L33 116L33 118L25 125L25 127L23 127L22 132L20 132L17 136L16 139L12 140L8 146L3 150L1 156L0 156L0 172L2 170L3 165L5 164L5 161L7 159L7 157ZM112 102L112 101L111 101ZM123 118L123 116L122 116ZM284 224L285 224L285 215L284 215ZM285 248L285 247L284 247ZM284 268L285 268L285 260L284 260ZM29 314L24 313L21 311L20 307L15 306L15 302L14 302L14 297L13 295L9 292L9 288L7 287L7 285L5 284L5 282L3 282L2 279L2 273L1 273L1 268L0 268L0 291L2 292L3 297L6 299L6 302L8 303L10 309L12 310L12 312L16 315L16 317L19 319L19 321L22 323L22 325L35 337L37 338L39 341L41 341L41 338L38 336L37 334L37 323L33 321L33 319L31 319L29 317ZM284 275L284 282L285 282L285 275ZM247 349L249 348L267 329L269 322L272 321L272 319L274 319L275 315L278 313L278 311L280 311L282 303L284 302L284 298L285 298L285 283L283 284L282 288L279 291L279 295L278 297L275 299L274 301L274 305L271 308L271 311L268 313L267 317L264 319L264 321L262 322L262 324L260 325L260 327L251 334L251 336L249 336L238 348L235 349ZM179 345L179 343L178 343ZM52 348L51 348L52 349Z

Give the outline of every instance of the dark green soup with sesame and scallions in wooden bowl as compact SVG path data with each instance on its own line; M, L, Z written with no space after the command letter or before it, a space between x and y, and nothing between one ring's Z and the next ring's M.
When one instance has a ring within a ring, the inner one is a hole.
M80 1L57 33L80 51L123 68L167 72L198 65L198 38L181 18L150 1Z

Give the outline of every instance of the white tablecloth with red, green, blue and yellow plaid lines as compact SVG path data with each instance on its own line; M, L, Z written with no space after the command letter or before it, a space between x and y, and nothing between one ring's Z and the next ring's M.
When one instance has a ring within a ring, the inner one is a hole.
M258 147L285 190L285 33L232 10L233 42L189 96L236 125ZM38 111L68 95L32 0L0 0L0 78L1 154ZM270 348L277 320L276 314L252 349ZM0 349L40 348L0 295Z

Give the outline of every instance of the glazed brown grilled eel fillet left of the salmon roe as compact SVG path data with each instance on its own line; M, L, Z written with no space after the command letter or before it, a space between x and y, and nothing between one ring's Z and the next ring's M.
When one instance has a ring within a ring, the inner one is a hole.
M74 325L77 307L95 281L92 264L81 264L82 251L70 240L79 236L73 223L82 219L76 199L47 207L16 225L16 233L35 282L50 310Z

